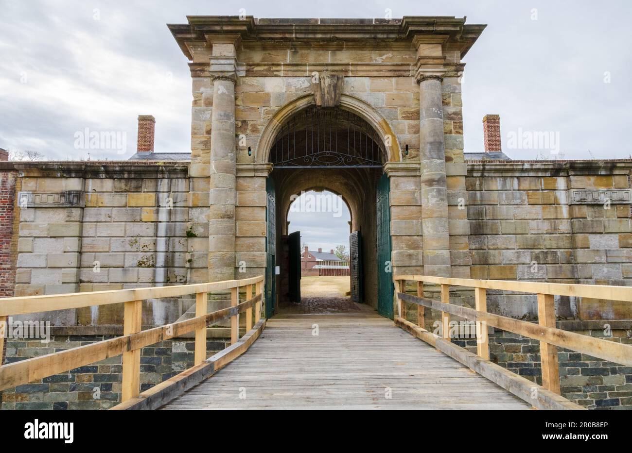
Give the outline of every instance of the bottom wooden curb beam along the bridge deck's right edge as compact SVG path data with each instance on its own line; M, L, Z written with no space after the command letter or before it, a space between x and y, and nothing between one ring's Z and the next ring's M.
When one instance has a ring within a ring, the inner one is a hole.
M420 332L418 327L404 321L405 320L401 318L396 319L395 324L412 333L416 336L416 338L422 339L423 341L430 339L427 335L423 334L423 332ZM506 389L526 401L526 403L533 404L533 406L538 409L585 409L579 404L575 404L568 399L535 384L535 382L531 382L524 377L510 372L506 368L502 368L489 360L485 360L482 357L471 353L465 348L461 348L461 346L457 346L456 344L442 338L434 338L432 341L434 341L434 343L430 344L439 351L446 353L454 358L454 360L458 360L458 362L463 363L463 365L466 365L471 370L486 377L495 384L500 385L503 389Z

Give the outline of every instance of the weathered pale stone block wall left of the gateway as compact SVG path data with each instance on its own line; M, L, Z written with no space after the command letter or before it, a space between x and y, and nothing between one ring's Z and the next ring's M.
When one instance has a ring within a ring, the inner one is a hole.
M186 283L187 166L15 163L21 191L15 295ZM143 324L173 322L191 301L147 301ZM122 305L41 314L53 325L111 325Z

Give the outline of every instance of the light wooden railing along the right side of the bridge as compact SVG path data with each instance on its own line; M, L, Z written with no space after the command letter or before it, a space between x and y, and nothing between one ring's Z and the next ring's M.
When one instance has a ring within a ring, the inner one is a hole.
M407 294L406 281L417 282L417 295ZM489 361L487 327L496 327L540 341L542 361L542 387L559 394L559 365L557 348L585 353L609 362L632 366L632 345L607 341L556 327L554 296L587 297L605 300L632 302L632 288L628 286L572 285L565 283L535 283L528 281L477 280L469 278L442 278L419 275L402 275L394 278L399 313L396 323L414 332L416 336L437 344L437 341L451 341L450 315L476 322L477 356ZM441 286L441 302L423 297L423 283ZM450 286L473 288L475 309L450 303ZM516 291L537 294L538 324L487 312L487 290ZM406 304L418 305L416 326L406 320ZM423 307L441 312L441 337L425 329ZM446 348L446 344L443 343ZM454 348L446 348L455 351ZM446 352L447 353L447 352ZM456 354L456 353L454 353ZM479 361L480 362L480 361ZM498 372L498 370L496 370Z

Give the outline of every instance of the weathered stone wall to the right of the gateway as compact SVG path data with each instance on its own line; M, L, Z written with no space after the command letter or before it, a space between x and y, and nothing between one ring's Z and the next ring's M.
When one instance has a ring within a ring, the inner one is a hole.
M632 285L630 162L468 163L471 277ZM557 298L566 319L632 319L628 303ZM488 307L535 319L532 297Z

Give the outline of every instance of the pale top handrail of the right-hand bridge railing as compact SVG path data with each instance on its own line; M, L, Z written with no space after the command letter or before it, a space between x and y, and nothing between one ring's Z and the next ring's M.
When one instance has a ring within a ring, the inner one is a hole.
M478 280L473 278L446 278L425 275L401 275L396 279L425 281L437 285L468 286L487 290L518 291L521 293L550 294L570 297L622 300L632 302L630 286L576 285L571 283L537 283L533 281Z

